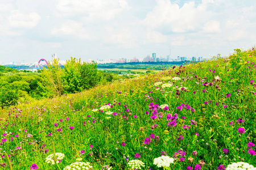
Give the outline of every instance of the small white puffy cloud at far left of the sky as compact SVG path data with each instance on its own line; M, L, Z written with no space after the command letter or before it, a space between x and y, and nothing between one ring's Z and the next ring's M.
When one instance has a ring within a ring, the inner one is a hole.
M33 28L39 23L40 19L40 15L36 12L23 14L18 10L13 10L7 20L9 21L10 27Z

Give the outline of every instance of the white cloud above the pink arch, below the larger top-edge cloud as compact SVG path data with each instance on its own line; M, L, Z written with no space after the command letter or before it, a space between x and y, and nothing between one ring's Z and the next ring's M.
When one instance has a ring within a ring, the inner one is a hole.
M92 37L85 31L82 23L73 20L66 20L51 30L52 35L71 35L79 39L91 39Z

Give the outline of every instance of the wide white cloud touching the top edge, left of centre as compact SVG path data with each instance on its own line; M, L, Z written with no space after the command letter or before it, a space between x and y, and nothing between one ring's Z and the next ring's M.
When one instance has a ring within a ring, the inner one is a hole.
M126 0L60 0L56 8L61 17L81 16L94 22L113 19L129 6Z

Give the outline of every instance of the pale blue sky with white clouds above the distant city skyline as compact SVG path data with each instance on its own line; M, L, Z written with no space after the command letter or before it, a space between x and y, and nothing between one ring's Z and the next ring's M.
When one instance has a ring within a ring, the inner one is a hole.
M255 0L0 0L0 61L228 56L255 30Z

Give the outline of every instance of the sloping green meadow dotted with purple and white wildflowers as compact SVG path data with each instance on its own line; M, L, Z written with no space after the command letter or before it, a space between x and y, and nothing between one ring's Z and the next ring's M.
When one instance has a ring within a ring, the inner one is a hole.
M0 116L0 169L253 169L256 50Z

